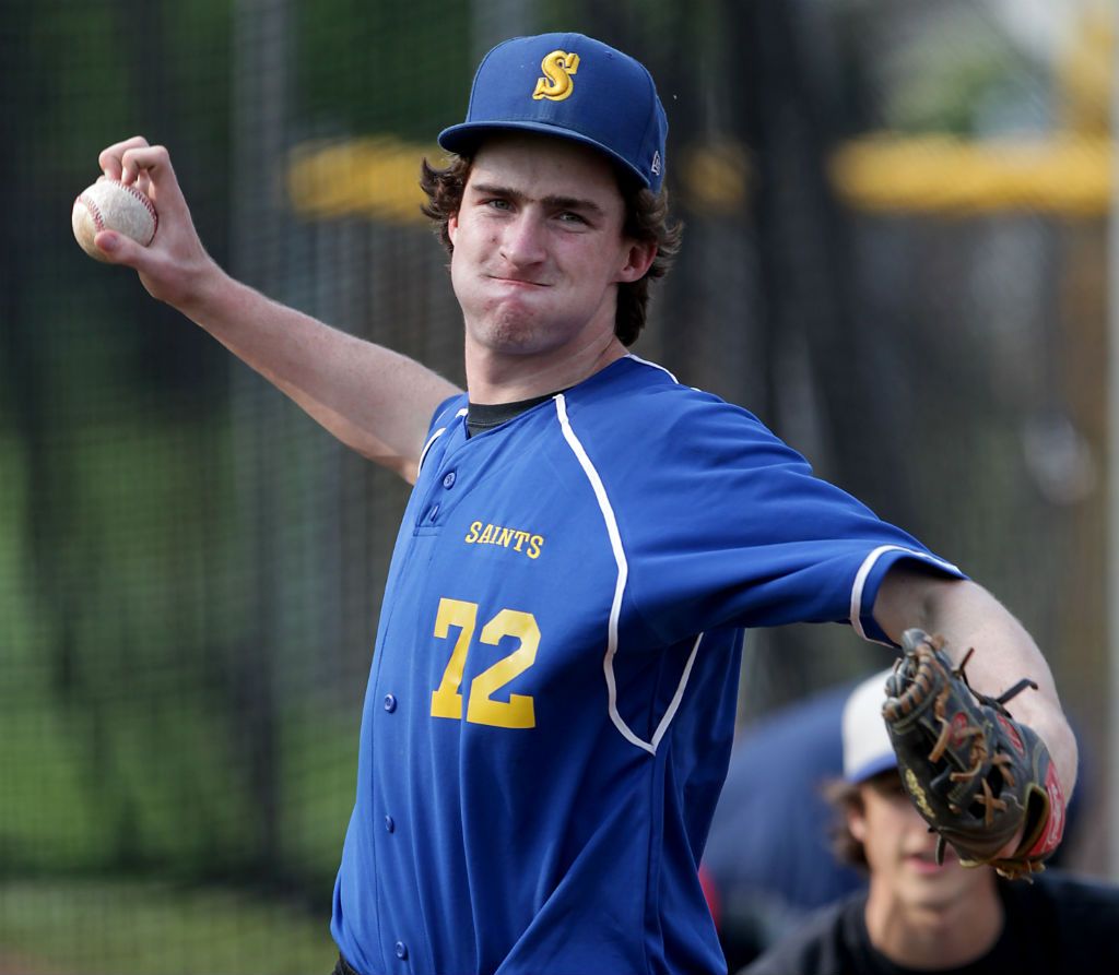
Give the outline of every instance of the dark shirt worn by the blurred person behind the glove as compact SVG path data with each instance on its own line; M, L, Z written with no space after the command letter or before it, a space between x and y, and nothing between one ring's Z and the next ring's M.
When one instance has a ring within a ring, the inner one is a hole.
M1119 972L1119 887L1052 871L999 883L1006 924L987 954L956 968L920 969L980 975ZM742 969L741 975L916 975L871 944L866 892L824 908L803 927Z

